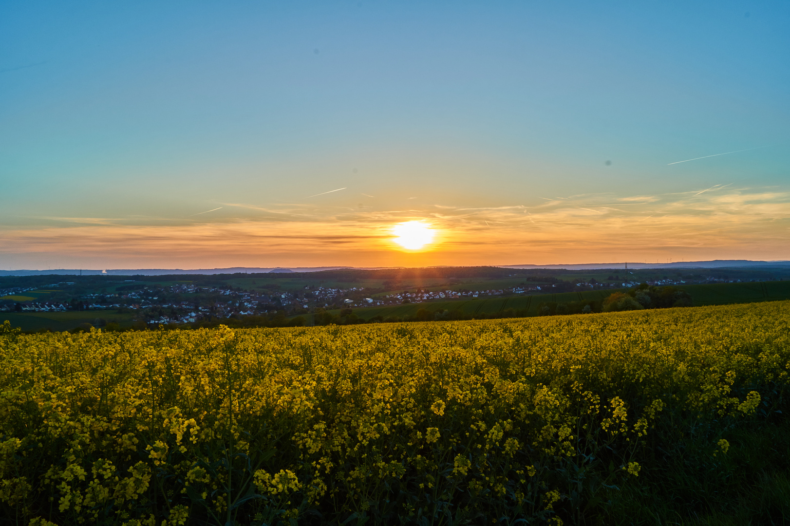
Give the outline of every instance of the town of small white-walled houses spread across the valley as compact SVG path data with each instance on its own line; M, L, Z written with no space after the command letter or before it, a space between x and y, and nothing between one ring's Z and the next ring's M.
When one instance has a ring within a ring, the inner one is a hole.
M762 281L762 280L744 280ZM649 280L654 286L692 283L740 283L713 276L686 276L675 279ZM116 282L117 283L117 282ZM596 280L555 284L519 284L513 287L484 290L438 290L389 292L371 294L364 287L304 287L302 290L281 291L276 285L262 287L263 291L243 291L227 286L201 286L200 284L172 284L160 286L139 280L127 280L111 291L77 292L70 290L73 282L44 285L42 287L6 287L0 289L0 311L61 312L66 310L115 310L117 313L134 312L137 320L147 323L183 324L213 318L260 316L274 311L287 314L307 314L316 308L333 309L341 306L369 307L401 303L421 303L453 299L476 299L502 295L551 294L551 292L634 287L639 282L632 276L609 276L607 283ZM43 294L42 294L43 293Z

